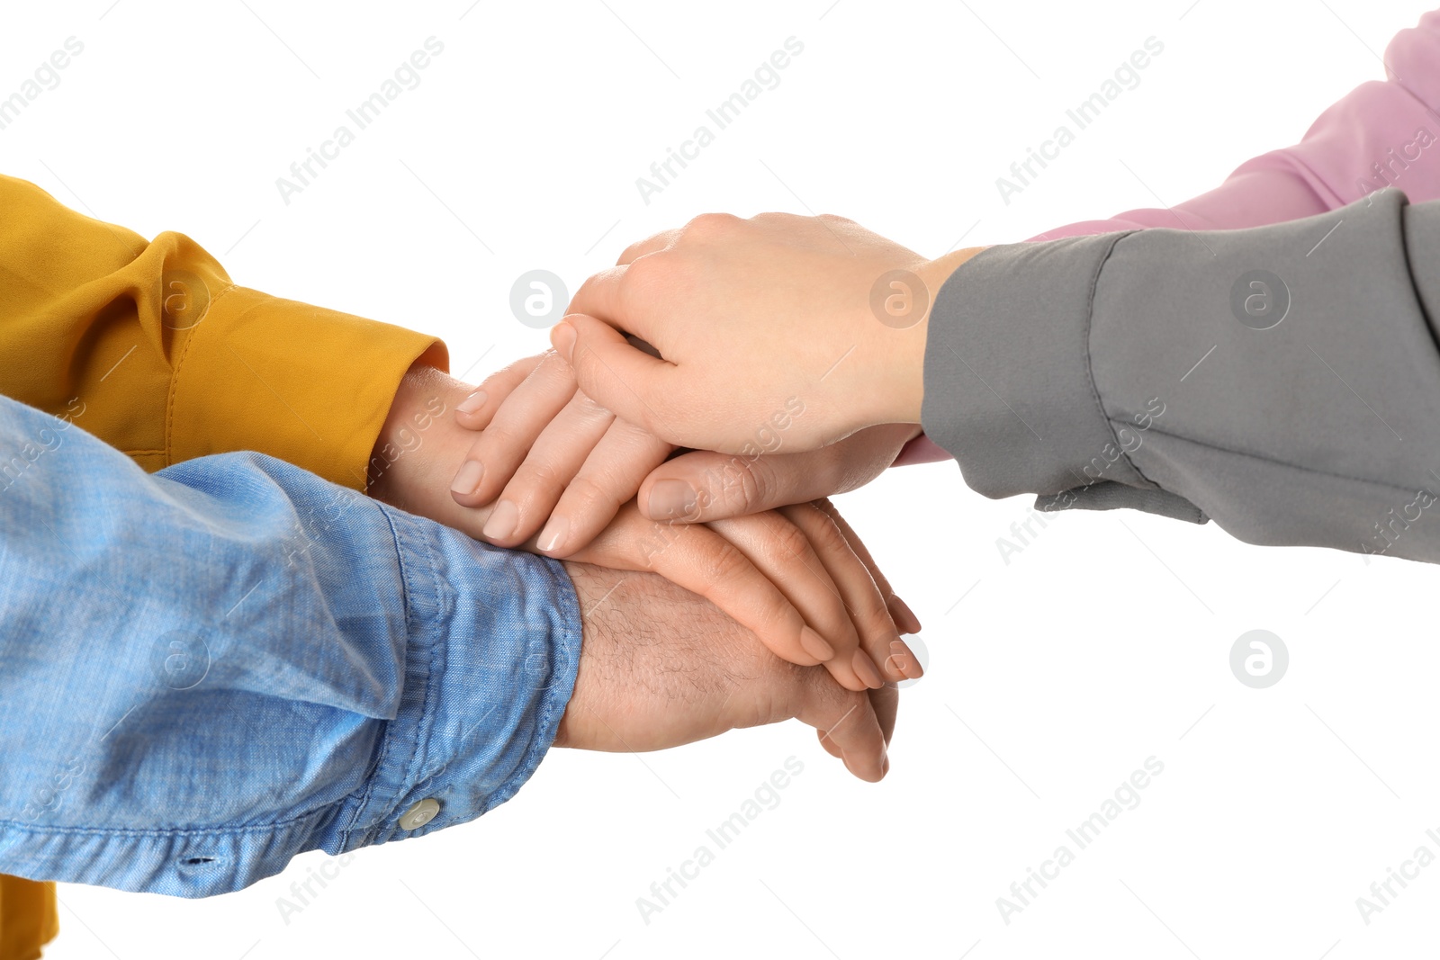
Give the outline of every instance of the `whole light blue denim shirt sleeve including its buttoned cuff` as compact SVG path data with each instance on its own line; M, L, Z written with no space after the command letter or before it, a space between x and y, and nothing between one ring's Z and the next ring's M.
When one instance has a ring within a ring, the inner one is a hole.
M258 453L151 476L0 397L0 528L3 872L209 897L465 823L575 684L559 563Z

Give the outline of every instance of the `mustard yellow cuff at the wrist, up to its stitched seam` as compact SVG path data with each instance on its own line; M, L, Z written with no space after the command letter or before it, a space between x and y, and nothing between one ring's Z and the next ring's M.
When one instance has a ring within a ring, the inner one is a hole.
M405 371L446 370L445 344L243 286L202 292L174 361L167 462L264 450L351 489Z

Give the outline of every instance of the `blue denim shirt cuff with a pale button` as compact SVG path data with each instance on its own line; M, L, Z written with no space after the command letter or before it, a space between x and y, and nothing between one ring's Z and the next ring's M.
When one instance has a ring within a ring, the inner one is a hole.
M579 602L559 561L384 512L413 622L405 689L419 695L389 724L364 793L321 832L328 853L467 823L513 797L554 743L580 666ZM416 825L406 815L422 803L433 816Z

